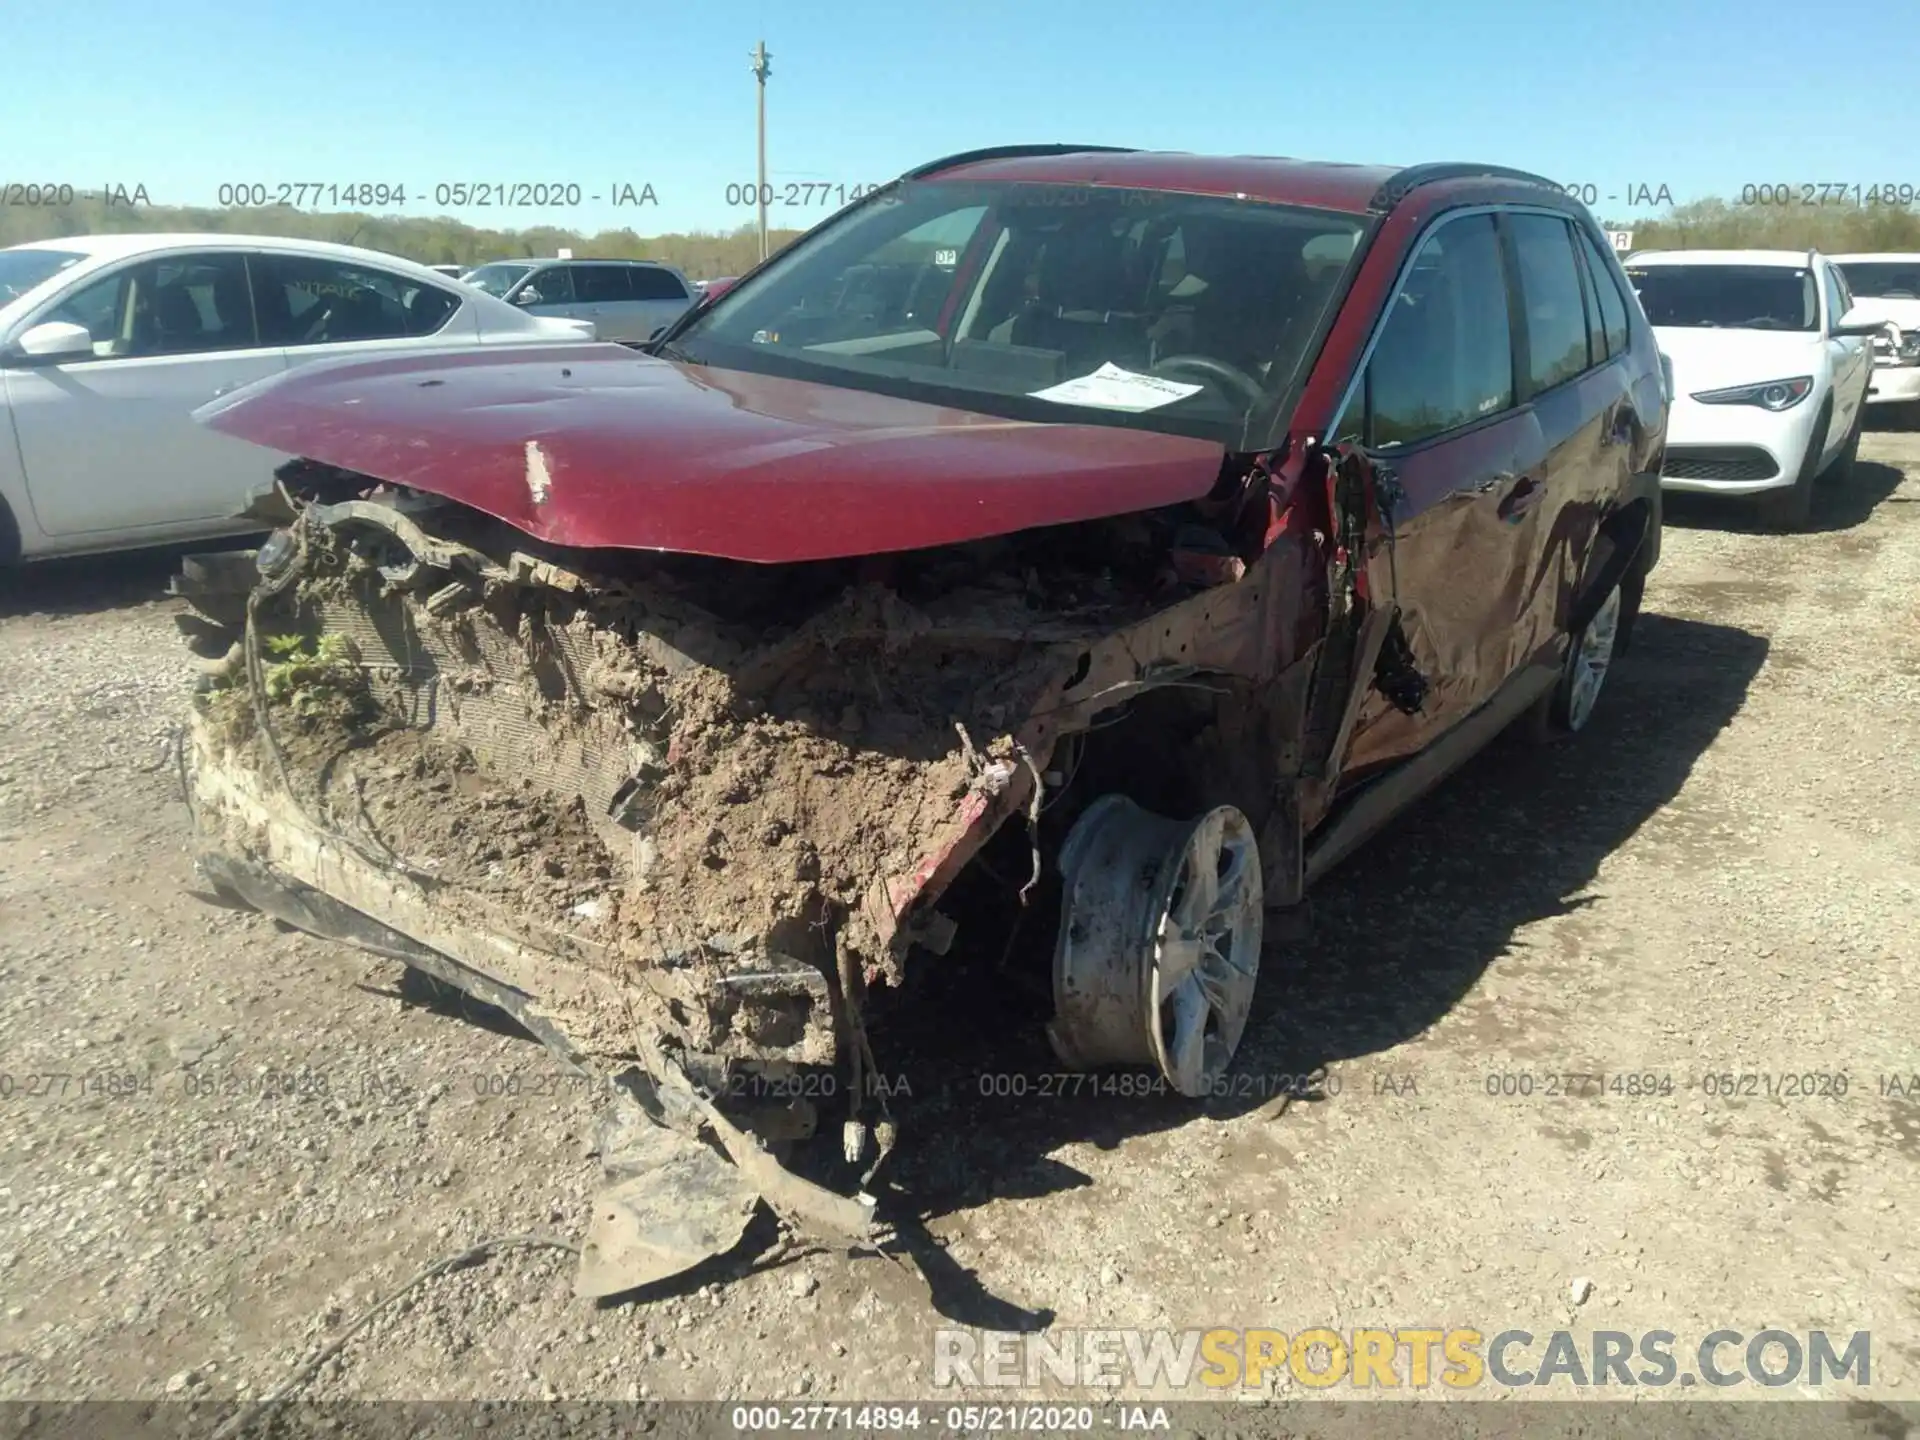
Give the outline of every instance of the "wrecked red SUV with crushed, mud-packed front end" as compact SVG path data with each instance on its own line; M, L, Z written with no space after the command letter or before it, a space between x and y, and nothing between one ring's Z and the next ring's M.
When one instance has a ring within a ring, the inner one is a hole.
M887 993L1037 914L1060 1060L1206 1092L1265 910L1503 726L1588 722L1667 401L1540 177L1012 146L645 353L321 363L202 419L300 457L244 616L182 586L207 877L858 1229L891 1117L760 1081L872 1075ZM839 1187L760 1146L822 1119Z

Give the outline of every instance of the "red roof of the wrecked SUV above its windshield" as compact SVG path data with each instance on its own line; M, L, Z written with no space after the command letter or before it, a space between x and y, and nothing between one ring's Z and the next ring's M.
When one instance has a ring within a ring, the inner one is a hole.
M1110 184L1246 196L1275 204L1319 205L1363 215L1400 165L1338 165L1281 156L1190 156L1156 150L1073 150L1068 154L954 157L916 171L941 180L1031 180L1037 184Z

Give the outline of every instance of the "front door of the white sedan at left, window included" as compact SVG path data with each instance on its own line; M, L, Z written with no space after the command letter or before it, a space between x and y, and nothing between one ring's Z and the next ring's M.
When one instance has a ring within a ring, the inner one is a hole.
M29 324L48 321L84 324L94 355L4 371L40 530L167 534L234 516L273 478L273 451L192 419L286 369L255 324L244 253L131 261L79 282Z

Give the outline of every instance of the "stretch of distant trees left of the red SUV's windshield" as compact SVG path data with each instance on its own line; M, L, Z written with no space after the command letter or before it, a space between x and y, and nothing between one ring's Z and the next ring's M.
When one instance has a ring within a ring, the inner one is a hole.
M276 234L288 240L332 240L346 246L384 250L422 265L480 265L490 259L574 255L599 259L659 259L695 280L743 275L760 257L753 225L732 230L689 230L676 234L636 234L601 230L584 234L557 225L526 230L488 230L451 217L361 215L348 211L303 211L286 205L265 209L215 209L202 205L127 205L98 198L77 198L67 205L0 205L0 246L23 240L58 240L63 234L161 234L169 230L213 230L219 234ZM780 250L801 230L768 230L768 244Z

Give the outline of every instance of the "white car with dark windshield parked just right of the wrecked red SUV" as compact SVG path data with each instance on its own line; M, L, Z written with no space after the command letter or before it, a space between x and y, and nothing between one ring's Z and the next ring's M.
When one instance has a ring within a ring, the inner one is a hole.
M1753 495L1799 528L1814 482L1860 447L1868 336L1839 269L1811 250L1663 250L1626 276L1672 361L1663 490Z

